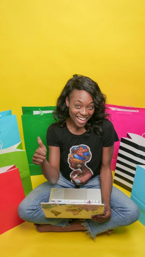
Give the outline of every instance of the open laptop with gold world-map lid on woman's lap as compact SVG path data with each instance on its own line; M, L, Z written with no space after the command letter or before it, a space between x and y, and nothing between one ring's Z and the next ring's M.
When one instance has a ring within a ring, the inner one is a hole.
M48 203L41 203L47 218L91 219L104 211L100 189L52 188Z

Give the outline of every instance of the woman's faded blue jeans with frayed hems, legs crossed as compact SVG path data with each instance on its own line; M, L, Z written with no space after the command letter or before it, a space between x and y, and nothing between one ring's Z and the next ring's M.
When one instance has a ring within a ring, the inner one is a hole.
M37 186L29 195L24 198L18 207L18 214L24 220L37 224L51 224L55 226L70 226L68 219L46 218L41 202L48 202L51 188L74 188L75 184L65 179L60 173L60 179L56 184L44 182ZM90 179L80 188L100 188L100 178L96 176ZM111 192L111 219L103 223L95 222L92 219L84 220L82 225L87 229L89 236L96 237L98 233L105 232L117 227L128 226L138 220L140 210L138 206L127 195L113 186Z

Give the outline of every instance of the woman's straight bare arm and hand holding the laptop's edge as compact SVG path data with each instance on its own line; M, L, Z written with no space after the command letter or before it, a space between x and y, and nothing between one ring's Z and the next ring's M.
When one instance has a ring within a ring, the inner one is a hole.
M101 195L102 203L105 205L104 214L93 216L94 221L103 222L111 218L110 198L112 191L112 172L111 172L111 160L114 151L114 144L110 147L103 147L102 151L102 163L100 170L100 183L101 183Z

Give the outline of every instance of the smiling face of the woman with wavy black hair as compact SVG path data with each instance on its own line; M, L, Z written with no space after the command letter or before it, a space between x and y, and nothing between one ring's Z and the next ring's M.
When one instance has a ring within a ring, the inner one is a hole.
M92 117L95 107L91 95L85 90L74 90L70 99L66 97L69 116L77 127L84 127Z

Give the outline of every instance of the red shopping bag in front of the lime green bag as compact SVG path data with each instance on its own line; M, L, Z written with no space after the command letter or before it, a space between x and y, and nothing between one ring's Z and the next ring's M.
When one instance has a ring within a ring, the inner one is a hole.
M0 168L0 234L24 222L18 216L24 197L19 169L15 165Z

